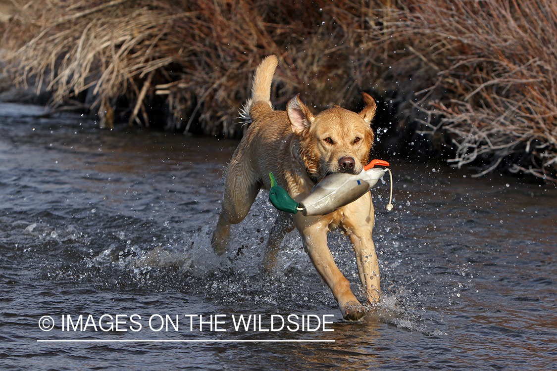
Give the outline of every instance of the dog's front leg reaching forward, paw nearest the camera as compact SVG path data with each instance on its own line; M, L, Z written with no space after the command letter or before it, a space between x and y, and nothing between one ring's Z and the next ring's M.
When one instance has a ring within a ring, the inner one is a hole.
M333 259L333 254L327 245L329 220L323 217L295 216L295 224L302 235L304 249L309 255L315 269L321 275L331 291L344 319L357 321L365 314L365 308L360 304L350 289L350 282L340 272Z

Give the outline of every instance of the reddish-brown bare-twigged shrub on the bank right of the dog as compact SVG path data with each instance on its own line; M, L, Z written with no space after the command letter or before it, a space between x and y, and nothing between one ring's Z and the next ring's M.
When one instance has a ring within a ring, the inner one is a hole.
M425 131L449 134L449 161L555 180L557 1L426 0L385 19L383 39L402 46L390 57L398 78L413 72L409 60L436 72L413 98L437 117Z

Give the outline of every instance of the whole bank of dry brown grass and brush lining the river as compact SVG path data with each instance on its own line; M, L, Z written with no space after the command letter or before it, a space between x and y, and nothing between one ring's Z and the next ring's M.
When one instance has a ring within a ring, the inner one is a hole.
M31 0L2 47L16 81L46 87L58 109L110 126L124 99L129 123L160 121L159 105L169 129L229 137L273 53L278 105L297 92L316 110L395 97L401 143L422 134L456 166L555 179L556 36L557 0Z

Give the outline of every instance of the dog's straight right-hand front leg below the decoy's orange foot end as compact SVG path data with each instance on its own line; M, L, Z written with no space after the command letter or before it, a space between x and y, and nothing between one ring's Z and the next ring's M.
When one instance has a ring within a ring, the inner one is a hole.
M379 261L372 239L375 211L368 194L346 206L342 226L354 246L361 285L370 303L377 303L381 296Z

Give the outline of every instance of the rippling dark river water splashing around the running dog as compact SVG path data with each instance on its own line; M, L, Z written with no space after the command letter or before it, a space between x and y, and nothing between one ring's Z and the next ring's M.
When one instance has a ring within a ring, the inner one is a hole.
M1 369L557 369L555 186L380 155L383 299L351 324L295 232L263 273L265 195L212 253L236 141L40 115L0 105ZM361 292L348 240L330 246Z

